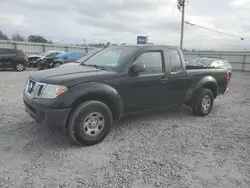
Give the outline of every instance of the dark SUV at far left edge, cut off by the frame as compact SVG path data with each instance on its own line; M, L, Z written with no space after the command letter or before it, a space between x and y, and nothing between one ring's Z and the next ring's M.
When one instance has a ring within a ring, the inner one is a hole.
M28 56L22 50L0 48L0 69L23 71L28 65Z

